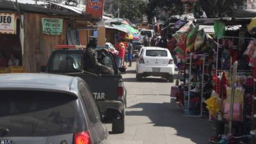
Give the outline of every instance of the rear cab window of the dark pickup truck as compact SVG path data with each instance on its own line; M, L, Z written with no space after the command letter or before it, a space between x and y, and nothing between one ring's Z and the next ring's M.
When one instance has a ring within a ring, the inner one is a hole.
M55 54L51 70L63 72L80 72L82 70L82 57L81 53L57 53Z

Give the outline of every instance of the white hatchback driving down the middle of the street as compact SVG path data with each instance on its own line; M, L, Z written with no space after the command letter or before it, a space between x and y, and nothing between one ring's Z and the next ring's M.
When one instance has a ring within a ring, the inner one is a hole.
M175 65L168 49L161 47L142 47L136 65L136 79L161 76L173 83Z

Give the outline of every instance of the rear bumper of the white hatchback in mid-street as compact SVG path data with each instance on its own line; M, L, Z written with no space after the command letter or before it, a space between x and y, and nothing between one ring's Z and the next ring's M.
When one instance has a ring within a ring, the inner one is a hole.
M152 72L153 68L160 68L160 72ZM137 74L147 74L149 76L174 75L175 65L152 66L138 63Z

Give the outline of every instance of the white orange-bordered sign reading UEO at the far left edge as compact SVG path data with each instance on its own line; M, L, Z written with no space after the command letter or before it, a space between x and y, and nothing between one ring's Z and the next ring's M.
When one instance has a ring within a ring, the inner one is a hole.
M0 33L16 34L16 22L14 13L0 13Z

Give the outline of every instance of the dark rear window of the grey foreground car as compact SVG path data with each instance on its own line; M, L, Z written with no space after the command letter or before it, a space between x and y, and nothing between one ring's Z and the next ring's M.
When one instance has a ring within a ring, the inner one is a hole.
M2 90L0 127L6 136L53 136L81 131L77 97L65 93Z

